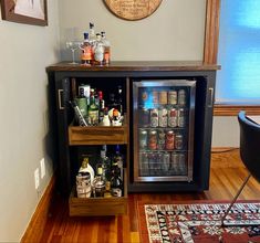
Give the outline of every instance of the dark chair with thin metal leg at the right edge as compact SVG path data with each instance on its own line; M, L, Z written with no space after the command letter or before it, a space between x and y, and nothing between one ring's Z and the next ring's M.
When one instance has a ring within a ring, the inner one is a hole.
M260 125L248 118L245 112L238 114L238 122L240 127L240 157L249 175L222 216L221 225L230 225L225 222L225 219L250 177L252 176L260 182Z

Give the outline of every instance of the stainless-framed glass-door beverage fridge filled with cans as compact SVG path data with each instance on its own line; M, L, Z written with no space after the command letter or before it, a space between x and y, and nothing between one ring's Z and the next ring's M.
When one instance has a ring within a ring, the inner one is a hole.
M196 81L133 83L134 180L193 181Z

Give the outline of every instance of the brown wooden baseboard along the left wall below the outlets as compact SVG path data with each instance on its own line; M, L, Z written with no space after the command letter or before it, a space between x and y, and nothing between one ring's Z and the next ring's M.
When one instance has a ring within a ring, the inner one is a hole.
M55 189L56 177L52 176L44 194L42 196L35 212L27 228L25 233L22 236L21 243L40 242L42 234L44 233L44 226L49 218L49 209L53 199Z

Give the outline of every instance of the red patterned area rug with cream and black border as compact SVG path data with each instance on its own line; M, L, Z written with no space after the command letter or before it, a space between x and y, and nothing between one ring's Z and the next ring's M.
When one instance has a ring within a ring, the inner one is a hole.
M220 225L228 203L138 203L142 243L254 243L260 242L260 202L238 202ZM245 223L257 225L243 226Z

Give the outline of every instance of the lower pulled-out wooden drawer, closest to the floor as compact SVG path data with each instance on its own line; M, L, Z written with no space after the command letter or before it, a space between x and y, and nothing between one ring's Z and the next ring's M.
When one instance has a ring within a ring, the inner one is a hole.
M127 178L124 171L124 197L121 198L76 198L73 188L70 199L71 216L118 215L127 213Z

